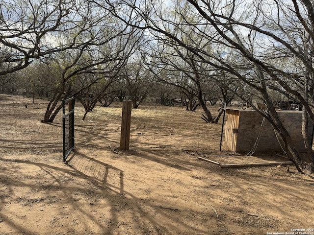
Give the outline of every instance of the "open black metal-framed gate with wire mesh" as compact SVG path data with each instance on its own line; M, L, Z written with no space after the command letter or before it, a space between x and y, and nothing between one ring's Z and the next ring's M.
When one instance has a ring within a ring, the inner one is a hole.
M65 106L69 110L65 113ZM63 162L65 162L74 148L74 97L62 100L62 129L63 129Z

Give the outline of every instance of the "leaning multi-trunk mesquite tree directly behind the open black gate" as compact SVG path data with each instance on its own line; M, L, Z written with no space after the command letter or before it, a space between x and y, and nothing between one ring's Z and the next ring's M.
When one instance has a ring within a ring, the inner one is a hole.
M81 18L76 18L80 21L73 29L74 38L72 35L61 37L65 41L75 40L80 46L51 56L51 61L59 62L56 76L58 82L44 122L53 121L61 108L61 99L82 95L88 97L92 86L99 82L103 86L100 93L93 95L92 99L85 99L85 118L102 97L102 93L116 79L141 35L135 28L111 19L103 9L98 9L92 3L82 4L87 5L79 12Z

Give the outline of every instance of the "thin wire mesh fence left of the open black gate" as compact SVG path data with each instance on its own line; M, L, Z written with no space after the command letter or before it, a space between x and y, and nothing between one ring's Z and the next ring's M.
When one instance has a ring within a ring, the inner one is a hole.
M42 123L48 101L0 94L0 156L62 154L62 114Z

